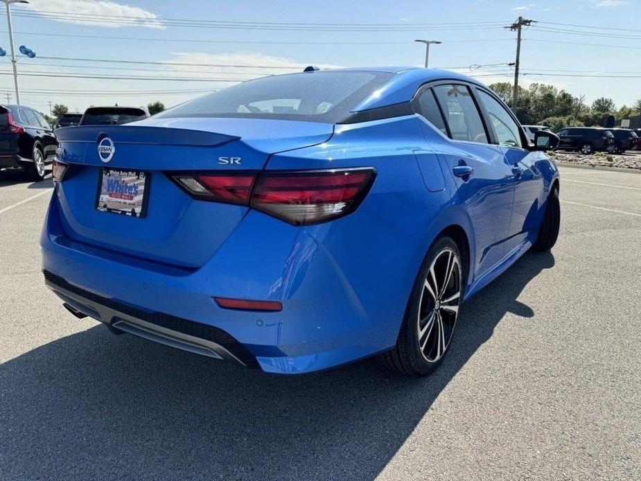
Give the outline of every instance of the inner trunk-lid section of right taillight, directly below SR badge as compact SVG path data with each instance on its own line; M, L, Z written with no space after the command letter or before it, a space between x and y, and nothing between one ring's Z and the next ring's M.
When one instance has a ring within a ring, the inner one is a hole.
M249 194L256 175L221 174L216 172L172 173L171 178L182 189L201 200L228 202L230 204L249 204Z

